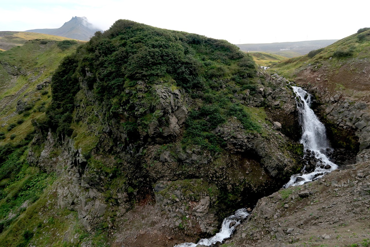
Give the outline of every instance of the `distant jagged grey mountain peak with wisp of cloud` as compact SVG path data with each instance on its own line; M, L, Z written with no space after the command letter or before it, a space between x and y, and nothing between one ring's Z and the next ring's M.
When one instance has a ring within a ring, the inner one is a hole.
M54 29L32 29L25 32L53 34L71 39L90 40L96 31L102 31L88 22L86 17L72 17L63 26Z

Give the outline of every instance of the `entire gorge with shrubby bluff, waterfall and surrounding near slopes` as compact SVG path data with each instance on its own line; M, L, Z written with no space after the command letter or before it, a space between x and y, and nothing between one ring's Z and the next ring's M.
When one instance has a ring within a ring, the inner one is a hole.
M346 44L367 49L358 35ZM225 40L118 20L86 43L1 52L0 242L196 246L233 231L217 245L315 246L320 225L352 244L345 224L358 234L368 219L370 114L349 82L366 87L369 61L335 57L340 42L262 70ZM318 118L300 117L309 100ZM329 141L315 147L318 119Z

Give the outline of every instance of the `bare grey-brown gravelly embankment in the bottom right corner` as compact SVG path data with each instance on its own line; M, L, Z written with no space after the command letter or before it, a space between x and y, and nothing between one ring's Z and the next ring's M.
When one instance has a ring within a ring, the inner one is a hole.
M258 201L230 246L370 246L370 163Z

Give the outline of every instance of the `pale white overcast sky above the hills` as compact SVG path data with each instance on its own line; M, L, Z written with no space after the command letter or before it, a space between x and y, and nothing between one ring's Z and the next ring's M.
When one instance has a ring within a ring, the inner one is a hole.
M58 28L85 16L103 30L118 19L198 33L233 44L342 39L370 27L369 0L10 0L0 31Z

